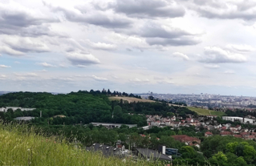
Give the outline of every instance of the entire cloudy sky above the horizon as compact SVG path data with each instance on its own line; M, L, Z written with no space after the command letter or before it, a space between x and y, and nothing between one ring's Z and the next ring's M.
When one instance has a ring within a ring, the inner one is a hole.
M0 0L0 91L256 96L255 0Z

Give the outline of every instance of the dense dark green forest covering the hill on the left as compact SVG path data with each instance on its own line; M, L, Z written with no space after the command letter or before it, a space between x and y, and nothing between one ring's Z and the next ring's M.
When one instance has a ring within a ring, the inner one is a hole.
M125 94L125 93L124 93ZM134 96L134 95L132 95ZM30 107L34 111L0 112L2 119L12 121L19 116L36 117L36 124L88 124L91 122L147 125L145 115L164 115L169 112L196 115L185 107L169 107L168 103L128 103L110 101L108 95L100 91L78 91L69 94L17 92L0 96L0 107ZM42 111L42 118L40 117Z

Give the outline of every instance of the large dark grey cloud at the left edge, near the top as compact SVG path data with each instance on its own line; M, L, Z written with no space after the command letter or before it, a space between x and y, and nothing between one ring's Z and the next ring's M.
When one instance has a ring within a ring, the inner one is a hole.
M53 32L50 25L44 25L51 22L59 22L59 19L37 13L35 10L26 9L15 2L0 2L0 34L64 37L65 34Z

